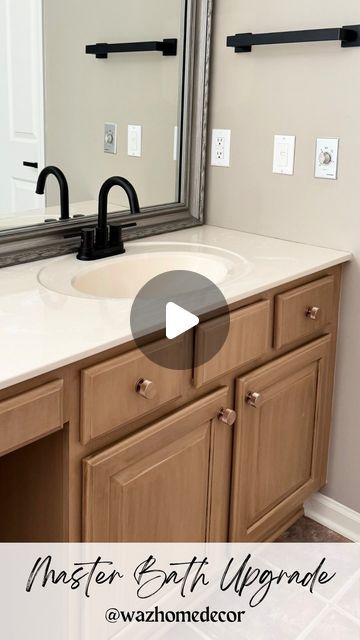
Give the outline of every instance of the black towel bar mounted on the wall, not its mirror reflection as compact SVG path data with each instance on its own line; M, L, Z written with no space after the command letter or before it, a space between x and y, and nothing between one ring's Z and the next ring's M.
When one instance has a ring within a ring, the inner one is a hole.
M326 42L330 40L340 41L342 47L360 47L360 25L277 33L237 33L234 36L228 36L227 46L234 47L235 53L247 53L257 45Z

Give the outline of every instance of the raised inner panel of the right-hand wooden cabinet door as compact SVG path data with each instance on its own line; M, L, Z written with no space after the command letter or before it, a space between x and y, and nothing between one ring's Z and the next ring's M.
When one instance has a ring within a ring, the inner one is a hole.
M248 447L256 451L250 524L311 478L316 386L317 365L313 364L264 392L264 404L248 435ZM291 451L296 455L287 453Z

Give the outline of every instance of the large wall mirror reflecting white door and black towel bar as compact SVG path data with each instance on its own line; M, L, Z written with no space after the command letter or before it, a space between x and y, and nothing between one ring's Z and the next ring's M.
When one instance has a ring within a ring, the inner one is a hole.
M0 257L9 242L28 251L37 238L39 257L71 250L69 240L95 224L100 186L113 175L137 191L141 235L199 224L211 5L0 0ZM53 176L35 193L48 165L67 178L68 221L59 222ZM119 188L109 214L129 215Z

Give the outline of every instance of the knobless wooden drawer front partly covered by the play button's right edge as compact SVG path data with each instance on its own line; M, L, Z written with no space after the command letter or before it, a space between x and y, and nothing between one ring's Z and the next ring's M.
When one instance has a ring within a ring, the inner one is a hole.
M206 362L206 352L211 352L211 344L222 323L224 318L216 318L197 328L194 370L196 387L261 358L271 348L271 306L269 300L265 300L230 314L226 342L219 353ZM197 362L204 364L197 366Z

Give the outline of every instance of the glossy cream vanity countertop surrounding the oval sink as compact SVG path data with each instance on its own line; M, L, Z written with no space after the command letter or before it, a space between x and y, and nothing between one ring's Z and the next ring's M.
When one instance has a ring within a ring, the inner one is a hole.
M127 243L128 255L149 242L207 245L248 261L242 275L219 285L229 304L351 260L343 251L207 225ZM89 268L72 254L0 269L0 389L132 339L131 301L76 297L40 284L40 270L55 261Z

